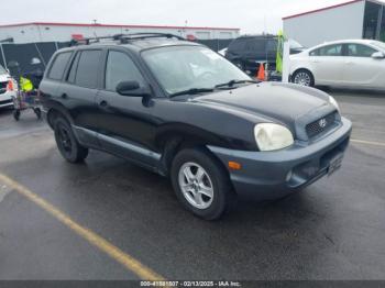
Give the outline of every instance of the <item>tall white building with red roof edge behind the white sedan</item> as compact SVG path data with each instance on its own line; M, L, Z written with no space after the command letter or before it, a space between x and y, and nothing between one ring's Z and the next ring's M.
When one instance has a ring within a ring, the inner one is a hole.
M353 0L286 16L284 32L311 47L328 41L373 38L385 42L385 2Z

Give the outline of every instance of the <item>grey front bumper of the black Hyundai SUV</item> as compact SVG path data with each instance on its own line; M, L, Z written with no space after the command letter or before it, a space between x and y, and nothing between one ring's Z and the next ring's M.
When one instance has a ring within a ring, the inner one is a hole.
M276 152L233 151L208 146L228 167L229 162L242 165L229 170L235 191L242 198L270 200L304 188L328 174L331 160L348 147L352 123L342 118L342 125L314 143L296 143Z

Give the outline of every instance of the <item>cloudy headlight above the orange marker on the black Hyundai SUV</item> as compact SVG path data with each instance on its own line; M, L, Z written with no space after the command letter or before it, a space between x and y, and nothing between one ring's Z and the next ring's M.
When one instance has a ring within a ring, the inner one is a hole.
M278 124L257 124L254 128L254 135L261 151L283 149L294 144L292 132Z

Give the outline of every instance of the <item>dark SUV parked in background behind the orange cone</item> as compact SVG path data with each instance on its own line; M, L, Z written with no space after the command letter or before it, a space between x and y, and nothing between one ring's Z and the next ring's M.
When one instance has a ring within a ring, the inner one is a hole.
M275 35L245 35L230 43L226 58L244 71L255 74L261 63L268 63L270 70L275 70L278 37ZM290 41L290 54L298 54L305 48Z

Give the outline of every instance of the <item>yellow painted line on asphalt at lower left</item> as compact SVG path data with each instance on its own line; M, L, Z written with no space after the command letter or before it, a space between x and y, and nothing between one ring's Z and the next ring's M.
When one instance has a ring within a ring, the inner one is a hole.
M8 176L0 174L0 181L9 186L10 188L14 189L20 195L24 196L35 204L37 204L40 208L52 214L54 218L56 218L58 221L61 221L63 224L65 224L67 228L69 228L72 231L77 233L79 236L88 241L90 244L109 255L114 261L119 262L121 265L123 265L127 269L139 276L143 280L151 280L151 281L163 281L165 280L161 275L153 272L151 268L146 267L142 263L140 263L134 257L130 256L129 254L124 253L107 240L102 239L95 232L90 231L87 228L81 226L80 224L76 223L74 220L72 220L68 215L66 215L64 212L58 210L56 207L51 204L50 202L45 201L21 184L16 182L15 180L9 178Z

